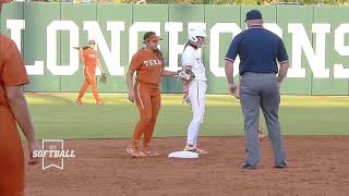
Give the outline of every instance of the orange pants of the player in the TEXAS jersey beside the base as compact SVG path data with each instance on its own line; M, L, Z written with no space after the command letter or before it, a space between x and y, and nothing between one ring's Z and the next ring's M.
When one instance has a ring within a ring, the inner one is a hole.
M137 147L141 136L144 134L143 148L147 149L149 148L157 114L160 110L160 90L157 84L153 85L136 82L134 84L134 91L135 103L140 111L140 121L134 128L131 145Z

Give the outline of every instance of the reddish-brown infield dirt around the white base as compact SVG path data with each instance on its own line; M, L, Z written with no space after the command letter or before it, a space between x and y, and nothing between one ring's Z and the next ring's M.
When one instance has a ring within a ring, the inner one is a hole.
M241 168L243 137L202 137L208 155L195 160L167 158L184 138L157 138L157 158L130 158L125 139L65 140L76 157L64 170L27 167L28 196L220 196L348 195L349 136L285 137L289 167L274 169L269 140L262 142L256 170Z

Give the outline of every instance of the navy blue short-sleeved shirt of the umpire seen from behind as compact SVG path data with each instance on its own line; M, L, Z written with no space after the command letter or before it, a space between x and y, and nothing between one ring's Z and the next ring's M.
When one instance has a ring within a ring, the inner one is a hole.
M250 26L237 35L230 44L226 60L240 57L240 75L245 72L278 73L279 63L288 61L284 41L263 26Z

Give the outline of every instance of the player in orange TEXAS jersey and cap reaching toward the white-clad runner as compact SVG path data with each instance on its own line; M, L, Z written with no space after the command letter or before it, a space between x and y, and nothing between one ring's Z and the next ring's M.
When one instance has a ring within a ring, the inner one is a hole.
M137 122L130 147L127 151L132 157L159 156L151 149L149 144L160 109L159 84L161 76L174 76L178 72L166 71L163 52L157 48L160 38L154 32L147 32L143 41L145 47L133 57L127 74L129 86L129 100L136 103L140 111ZM133 83L133 74L136 72L136 82ZM144 134L143 149L139 148L139 142Z

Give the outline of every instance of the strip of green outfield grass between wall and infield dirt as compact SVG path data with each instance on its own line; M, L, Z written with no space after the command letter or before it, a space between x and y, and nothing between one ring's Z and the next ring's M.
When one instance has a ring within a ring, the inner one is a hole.
M75 97L26 95L39 139L130 137L139 114L125 95L101 95L105 106L94 105L91 95L84 98L86 105L76 106L72 102ZM349 135L349 97L282 96L279 115L286 135ZM190 121L191 109L181 103L181 96L163 95L155 136L183 136ZM262 113L261 125L266 130ZM239 101L230 96L207 96L201 135L242 134Z

